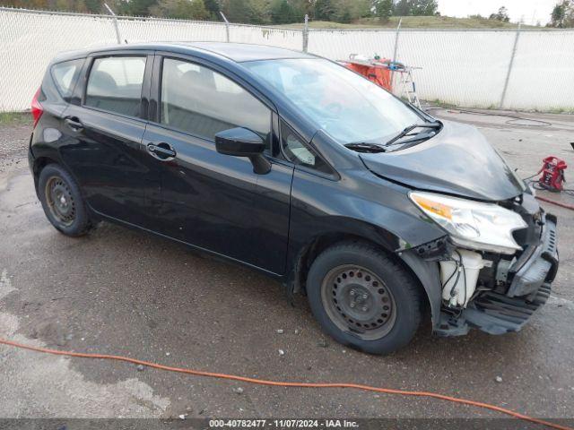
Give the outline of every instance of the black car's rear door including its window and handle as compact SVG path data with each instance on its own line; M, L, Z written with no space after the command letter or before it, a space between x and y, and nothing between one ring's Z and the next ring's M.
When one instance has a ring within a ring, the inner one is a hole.
M153 227L161 202L157 163L142 147L152 62L135 51L90 57L60 148L91 209L143 228Z

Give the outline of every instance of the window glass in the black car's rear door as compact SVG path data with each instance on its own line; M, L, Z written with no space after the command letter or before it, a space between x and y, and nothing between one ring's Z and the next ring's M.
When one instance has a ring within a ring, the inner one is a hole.
M85 106L139 116L144 72L144 56L96 58L88 78Z

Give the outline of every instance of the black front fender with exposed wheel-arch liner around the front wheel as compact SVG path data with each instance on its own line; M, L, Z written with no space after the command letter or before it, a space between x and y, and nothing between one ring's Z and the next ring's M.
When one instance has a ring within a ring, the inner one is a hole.
M287 283L297 290L304 282L309 247L323 240L362 239L398 255L421 282L429 298L432 323L439 323L441 288L437 262L425 262L412 248L444 237L408 198L409 189L366 170L340 171L328 180L295 168L291 185L291 223ZM319 246L320 252L324 246ZM311 251L310 254L317 254ZM303 263L301 263L303 262ZM294 281L294 283L291 283Z

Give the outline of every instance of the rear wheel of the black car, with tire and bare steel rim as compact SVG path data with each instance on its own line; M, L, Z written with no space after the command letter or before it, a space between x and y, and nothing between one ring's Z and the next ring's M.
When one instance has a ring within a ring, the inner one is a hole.
M64 168L57 164L43 168L38 194L46 218L65 236L83 236L90 230L91 220L80 188Z

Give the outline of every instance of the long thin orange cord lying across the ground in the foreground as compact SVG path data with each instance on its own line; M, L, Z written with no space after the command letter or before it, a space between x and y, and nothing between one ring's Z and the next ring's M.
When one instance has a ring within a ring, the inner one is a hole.
M0 344L8 345L15 348L30 349L31 351L43 352L46 354L54 354L56 356L68 356L68 357L80 357L80 358L100 358L106 360L117 360L125 361L127 363L133 363L135 365L142 365L152 367L154 369L167 370L168 372L178 372L180 374L195 374L196 376L208 376L211 378L227 379L231 381L239 381L241 383L255 383L258 385L271 385L274 387L299 387L299 388L354 388L357 390L364 391L375 391L384 392L387 394L399 394L402 396L417 396L417 397L431 397L433 399L448 400L455 403L474 406L476 408L490 409L501 414L509 415L510 417L515 417L518 419L523 419L531 423L541 424L543 426L548 426L556 428L558 430L574 430L572 427L560 426L553 424L543 419L538 419L535 417L528 417L527 415L514 412L510 409L500 408L499 406L490 405L488 403L483 403L481 401L458 399L456 397L446 396L444 394L439 394L436 392L429 391L404 391L404 390L394 390L392 388L378 388L372 387L370 385L362 385L359 383L289 383L280 381L268 381L265 379L248 378L246 376L239 376L235 374L216 374L213 372L204 372L201 370L186 369L181 367L163 366L157 363L152 363L149 361L138 360L136 358L123 357L123 356L111 356L108 354L88 354L84 352L71 352L71 351L59 351L57 349L50 348L39 348L31 347L30 345L24 345L22 343L13 342L12 340L5 340L0 338Z

